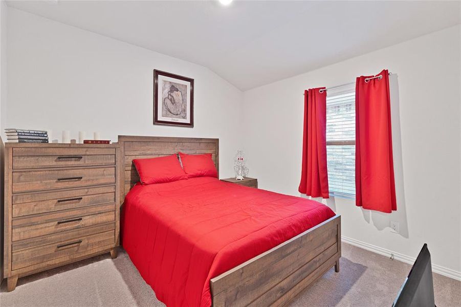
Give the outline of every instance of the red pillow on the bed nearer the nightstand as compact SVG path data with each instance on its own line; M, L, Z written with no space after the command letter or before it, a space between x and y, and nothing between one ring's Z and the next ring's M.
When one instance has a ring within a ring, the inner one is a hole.
M187 153L179 152L179 157L187 178L217 177L217 170L213 160L211 160L211 153L187 155Z

